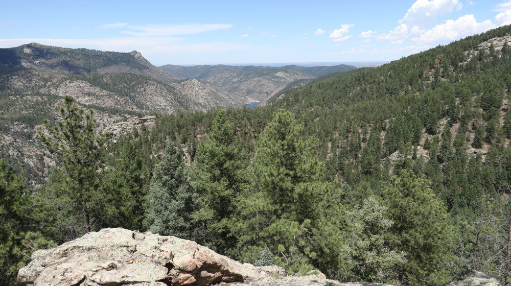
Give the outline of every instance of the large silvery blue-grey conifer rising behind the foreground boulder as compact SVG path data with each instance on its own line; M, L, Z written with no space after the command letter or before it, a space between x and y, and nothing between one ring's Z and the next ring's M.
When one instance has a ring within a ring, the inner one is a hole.
M197 195L183 158L183 151L169 141L149 184L145 225L154 233L194 240Z

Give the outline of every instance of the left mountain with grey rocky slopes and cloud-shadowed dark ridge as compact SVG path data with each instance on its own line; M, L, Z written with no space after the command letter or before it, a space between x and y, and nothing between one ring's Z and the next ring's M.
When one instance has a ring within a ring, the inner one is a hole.
M176 80L138 52L66 49L37 43L0 49L0 153L22 166L34 184L48 176L52 160L34 132L56 120L63 96L94 109L102 128L137 113L205 111L252 101L213 84Z

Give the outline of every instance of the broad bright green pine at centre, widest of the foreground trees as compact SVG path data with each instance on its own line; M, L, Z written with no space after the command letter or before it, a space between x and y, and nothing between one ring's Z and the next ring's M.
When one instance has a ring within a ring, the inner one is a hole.
M278 263L290 271L311 270L324 261L339 263L333 257L338 257L336 245L342 240L342 207L337 190L323 179L315 140L301 138L302 128L291 112L281 109L258 141L253 166L257 188L241 200L244 225L238 223L236 230L243 260L253 261L264 244L278 251Z

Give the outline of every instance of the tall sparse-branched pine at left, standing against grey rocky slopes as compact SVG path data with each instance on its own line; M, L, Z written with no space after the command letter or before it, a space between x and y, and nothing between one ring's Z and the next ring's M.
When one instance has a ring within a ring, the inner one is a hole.
M62 164L66 185L56 190L69 198L74 211L81 213L83 229L86 233L109 204L109 195L101 189L101 172L104 166L104 148L107 134L96 133L96 121L92 110L85 112L75 105L75 99L64 98L60 107L62 120L50 127L44 121L45 131L37 131L37 138L55 154Z

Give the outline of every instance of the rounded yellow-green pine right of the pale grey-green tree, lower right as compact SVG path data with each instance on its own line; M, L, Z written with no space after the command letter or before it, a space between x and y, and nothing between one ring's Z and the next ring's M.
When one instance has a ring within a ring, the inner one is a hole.
M410 285L445 285L451 280L457 230L444 204L429 187L429 182L409 171L393 176L384 189L384 204L390 228L390 245L407 253L399 265L402 281Z

